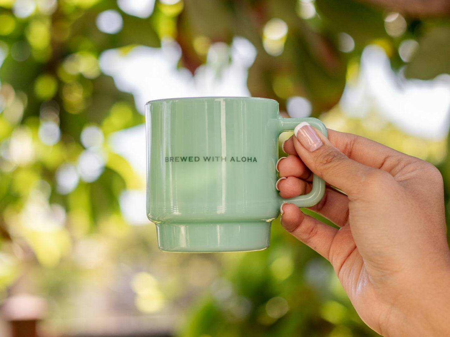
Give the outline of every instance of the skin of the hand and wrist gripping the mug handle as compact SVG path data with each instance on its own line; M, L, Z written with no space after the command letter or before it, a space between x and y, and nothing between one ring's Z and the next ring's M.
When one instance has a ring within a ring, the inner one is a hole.
M329 130L327 139L315 132L323 143L315 151L294 136L284 143L289 155L278 169L287 179L279 182L279 194L291 198L310 191L312 171L327 188L310 209L340 228L294 204L283 204L282 226L331 262L361 319L377 333L450 336L441 174L432 164L364 137Z

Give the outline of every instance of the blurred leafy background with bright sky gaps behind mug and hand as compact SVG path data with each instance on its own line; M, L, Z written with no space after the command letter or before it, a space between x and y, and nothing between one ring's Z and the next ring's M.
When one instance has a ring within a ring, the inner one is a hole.
M0 0L0 336L377 336L279 220L265 251L158 251L144 104L276 99L437 165L448 216L450 6L424 3Z

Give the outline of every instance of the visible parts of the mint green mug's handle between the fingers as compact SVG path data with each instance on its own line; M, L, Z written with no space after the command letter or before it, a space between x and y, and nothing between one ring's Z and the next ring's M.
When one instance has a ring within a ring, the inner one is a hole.
M302 123L302 122L308 122L312 126L314 126L316 129L319 129L320 132L322 132L325 136L328 137L327 128L325 127L325 124L322 123L317 118L313 117L307 117L307 118L279 118L279 133L282 133L284 131L292 131L295 129L295 127ZM283 199L279 197L280 199L280 207L284 202L292 203L297 205L297 207L310 207L315 204L317 204L322 197L325 194L325 182L322 178L317 177L315 174L312 178L312 190L306 195L299 195L295 198L290 199Z

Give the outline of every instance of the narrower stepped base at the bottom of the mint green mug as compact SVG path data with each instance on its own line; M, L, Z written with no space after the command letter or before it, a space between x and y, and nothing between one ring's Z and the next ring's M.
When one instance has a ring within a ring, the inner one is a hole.
M269 247L270 222L159 223L156 234L165 252L248 252Z

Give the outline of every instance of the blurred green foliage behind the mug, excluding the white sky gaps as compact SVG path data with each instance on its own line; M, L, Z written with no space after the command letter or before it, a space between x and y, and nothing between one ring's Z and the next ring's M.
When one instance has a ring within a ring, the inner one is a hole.
M96 19L107 10L120 16L119 31L99 30ZM371 132L336 106L368 44L381 46L406 76L449 73L447 19L403 17L355 0L157 1L147 18L124 12L116 1L0 0L3 298L14 289L34 291L57 303L54 317L67 317L75 314L61 309L66 297L86 284L111 285L121 274L144 313L168 302L184 310L192 294L201 293L180 329L184 337L375 335L331 266L281 231L278 221L266 251L196 257L157 252L154 229L132 228L122 217L121 192L144 188L144 179L104 139L144 117L133 97L101 72L99 56L175 40L179 67L193 73L211 44L230 44L236 35L257 50L247 82L252 95L274 98L282 110L287 98L306 97L312 115L327 125L345 120L343 131L438 164L448 205L445 141L420 140L391 124ZM405 41L418 42L410 57L399 53ZM85 140L83 132L90 135ZM94 168L80 172L83 161Z

